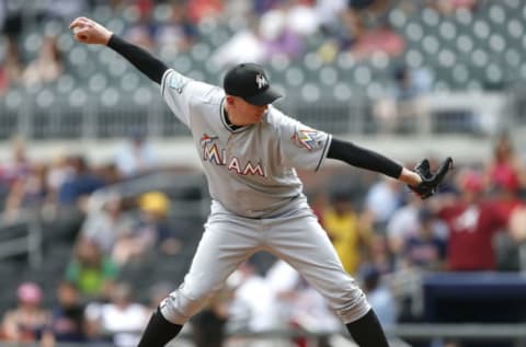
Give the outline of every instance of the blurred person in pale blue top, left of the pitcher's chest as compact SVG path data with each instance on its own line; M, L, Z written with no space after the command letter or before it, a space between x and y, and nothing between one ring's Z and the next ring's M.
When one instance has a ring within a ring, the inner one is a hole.
M133 129L115 155L118 172L124 178L148 174L157 166L157 155L140 129Z

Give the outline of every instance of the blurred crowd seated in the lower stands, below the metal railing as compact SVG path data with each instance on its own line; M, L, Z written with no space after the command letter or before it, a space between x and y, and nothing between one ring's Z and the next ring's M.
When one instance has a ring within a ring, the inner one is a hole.
M12 162L0 171L4 218L16 219L35 208L50 218L53 210L68 206L84 218L75 232L55 305L44 305L38 284L21 284L18 305L3 313L2 338L42 339L48 346L110 338L117 346L133 346L151 310L174 289L170 282L149 284L145 302L134 296L134 284L119 277L123 267L140 264L151 252L176 254L184 246L179 238L184 231L165 223L170 199L161 192L133 201L110 195L100 208L90 209L96 189L161 167L147 139L137 134L113 162L112 170L89 165L79 155L39 163L26 157L22 140L13 141ZM339 176L335 170L331 183L318 189L309 189L316 185L307 177L307 189L344 268L359 281L382 324L392 326L422 320L423 274L525 270L519 256L526 238L524 169L512 139L502 134L487 162L457 163L439 194L428 200L397 181L363 171ZM195 317L192 336L197 346L210 346L199 338L219 343L226 331L283 327L338 332L341 326L291 267L274 259L265 268L253 258ZM305 343L294 340L297 346Z

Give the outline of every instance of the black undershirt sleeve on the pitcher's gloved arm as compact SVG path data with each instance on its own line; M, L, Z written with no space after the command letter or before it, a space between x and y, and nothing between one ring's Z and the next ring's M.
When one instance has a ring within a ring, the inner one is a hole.
M335 138L331 141L327 158L338 159L353 166L379 172L393 178L400 177L403 169L397 162L377 152Z

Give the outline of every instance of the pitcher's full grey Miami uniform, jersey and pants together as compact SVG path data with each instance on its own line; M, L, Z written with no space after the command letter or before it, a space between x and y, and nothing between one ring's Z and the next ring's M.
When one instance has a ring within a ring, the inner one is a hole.
M214 199L184 282L160 305L163 316L184 324L260 251L297 269L344 323L366 314L370 306L308 207L295 171L318 170L331 136L272 105L258 124L232 128L224 114L225 92L174 70L164 72L161 93L192 130Z

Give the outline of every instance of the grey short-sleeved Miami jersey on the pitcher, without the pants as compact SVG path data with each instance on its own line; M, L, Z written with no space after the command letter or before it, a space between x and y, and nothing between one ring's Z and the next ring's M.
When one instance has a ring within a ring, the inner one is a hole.
M318 170L331 136L284 115L272 105L254 125L232 129L225 120L225 92L172 69L161 93L192 131L210 196L248 218L277 217L305 203L295 167Z

